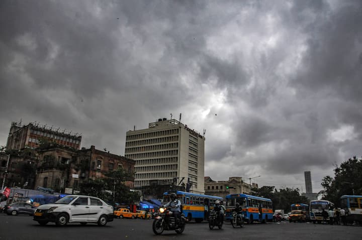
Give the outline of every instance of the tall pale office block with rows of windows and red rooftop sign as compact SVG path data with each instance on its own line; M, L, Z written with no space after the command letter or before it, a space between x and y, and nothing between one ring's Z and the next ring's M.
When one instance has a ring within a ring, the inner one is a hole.
M148 129L126 133L125 157L135 160L135 188L152 180L177 181L204 193L204 152L205 137L175 119L160 118Z

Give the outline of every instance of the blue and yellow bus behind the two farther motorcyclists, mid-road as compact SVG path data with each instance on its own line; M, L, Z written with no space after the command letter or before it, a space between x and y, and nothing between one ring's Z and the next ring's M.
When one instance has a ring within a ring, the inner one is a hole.
M240 193L227 195L225 200L226 219L232 218L232 211L238 202L242 207L242 213L247 223L250 224L253 221L266 222L273 220L273 202L269 198Z

